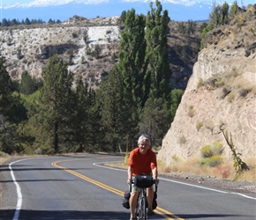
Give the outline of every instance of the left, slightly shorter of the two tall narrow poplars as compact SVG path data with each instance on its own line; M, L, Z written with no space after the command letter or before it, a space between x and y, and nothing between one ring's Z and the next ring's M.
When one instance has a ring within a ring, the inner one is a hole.
M145 75L145 26L143 15L136 15L135 10L127 11L124 31L121 33L118 68L124 78L126 98L133 99L139 109L143 100L143 84ZM129 101L129 100L127 100Z

